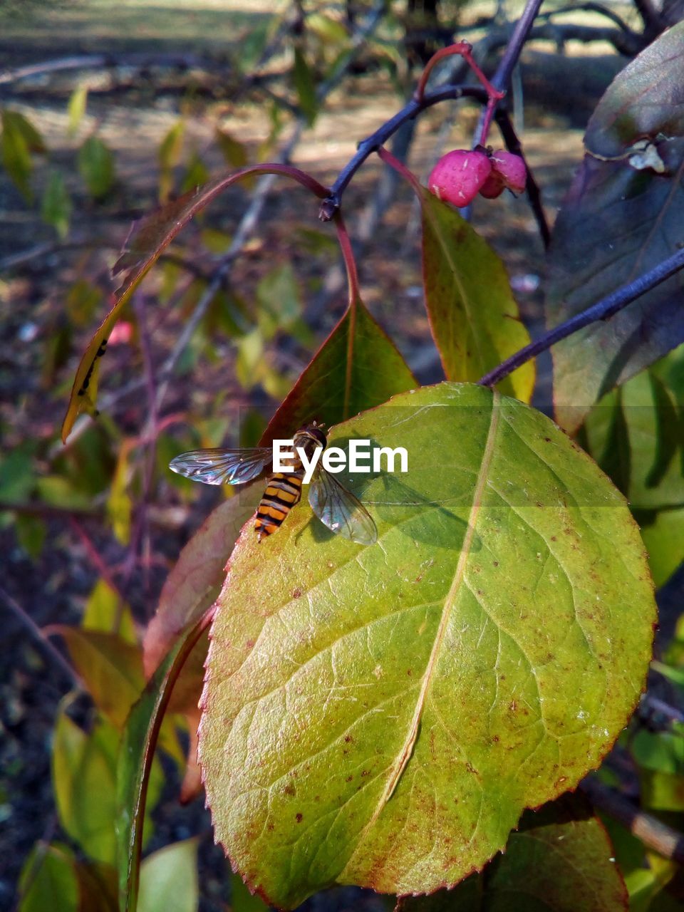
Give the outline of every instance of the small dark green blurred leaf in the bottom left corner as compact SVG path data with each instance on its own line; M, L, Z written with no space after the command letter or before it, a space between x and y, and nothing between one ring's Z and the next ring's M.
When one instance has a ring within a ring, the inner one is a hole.
M38 843L19 876L18 912L79 912L76 862L63 845Z

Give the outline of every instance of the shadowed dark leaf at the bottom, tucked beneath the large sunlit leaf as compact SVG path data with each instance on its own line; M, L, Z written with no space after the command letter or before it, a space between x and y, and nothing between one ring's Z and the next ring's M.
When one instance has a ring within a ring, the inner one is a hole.
M627 912L627 888L600 823L577 797L523 815L501 857L453 891L399 902L398 912Z

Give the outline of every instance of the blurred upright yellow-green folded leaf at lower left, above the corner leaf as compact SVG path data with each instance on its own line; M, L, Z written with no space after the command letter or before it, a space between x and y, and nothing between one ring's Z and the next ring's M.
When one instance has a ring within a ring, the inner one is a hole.
M57 715L52 778L59 822L90 858L114 864L119 732L100 722L90 734Z

